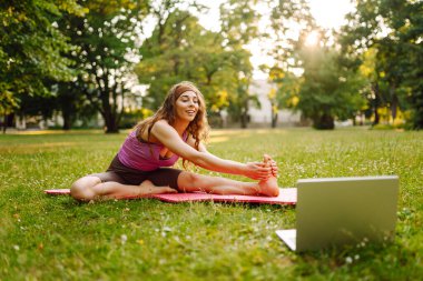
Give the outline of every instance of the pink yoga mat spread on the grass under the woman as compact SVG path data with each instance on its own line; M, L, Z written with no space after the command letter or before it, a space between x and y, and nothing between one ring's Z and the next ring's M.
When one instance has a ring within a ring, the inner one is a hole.
M278 197L250 197L250 195L217 195L208 193L169 193L169 194L155 194L149 198L159 199L165 202L179 203L179 202L195 202L195 201L214 201L214 202L245 202L245 203L265 203L265 204L296 204L297 189L279 189ZM49 189L45 193L51 195L69 194L69 189ZM127 198L134 199L134 198Z

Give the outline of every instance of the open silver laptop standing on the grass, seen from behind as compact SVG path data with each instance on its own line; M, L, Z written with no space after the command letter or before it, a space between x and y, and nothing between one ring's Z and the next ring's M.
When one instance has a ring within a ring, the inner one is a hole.
M396 175L298 180L296 229L276 234L293 251L392 239L397 195Z

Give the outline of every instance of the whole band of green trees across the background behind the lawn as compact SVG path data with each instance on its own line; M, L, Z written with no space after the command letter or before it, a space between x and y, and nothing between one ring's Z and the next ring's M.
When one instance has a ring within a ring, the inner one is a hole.
M335 32L317 26L305 0L224 1L214 31L199 23L207 7L195 0L2 1L0 113L60 111L69 129L98 112L117 132L134 84L147 89L139 106L156 110L171 84L190 80L210 118L226 109L245 128L249 107L259 107L247 46L270 42L273 62L262 69L276 86L273 127L291 108L318 129L363 113L376 124L387 110L391 122L422 129L423 3L354 3Z

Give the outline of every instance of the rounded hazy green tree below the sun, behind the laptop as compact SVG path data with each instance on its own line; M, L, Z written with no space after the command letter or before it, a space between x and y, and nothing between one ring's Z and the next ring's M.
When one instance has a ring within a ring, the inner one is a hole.
M297 108L313 120L316 129L334 129L336 118L346 120L363 107L363 82L335 46L303 46L299 59L304 69Z

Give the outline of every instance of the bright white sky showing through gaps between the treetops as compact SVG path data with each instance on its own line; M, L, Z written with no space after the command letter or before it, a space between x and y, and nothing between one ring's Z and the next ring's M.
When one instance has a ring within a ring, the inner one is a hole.
M207 14L199 17L199 23L206 29L218 31L219 17L218 7L225 0L200 0L205 6L210 7ZM353 10L351 0L308 0L311 12L316 19L318 26L325 29L337 29L344 22L344 17L347 12ZM255 68L254 79L266 79L266 74L258 70L258 66L263 63L272 63L272 59L266 57L260 50L258 42L253 42L247 47L252 52L250 61Z

